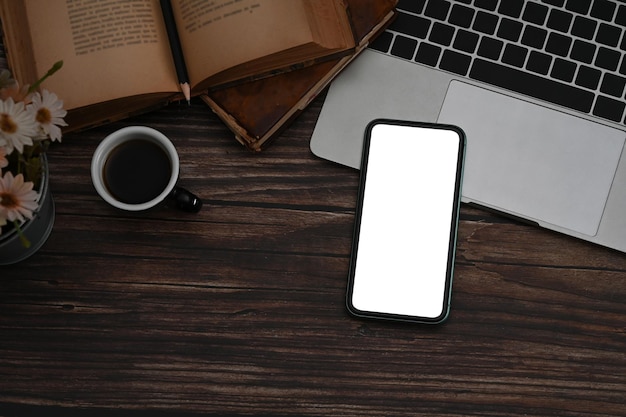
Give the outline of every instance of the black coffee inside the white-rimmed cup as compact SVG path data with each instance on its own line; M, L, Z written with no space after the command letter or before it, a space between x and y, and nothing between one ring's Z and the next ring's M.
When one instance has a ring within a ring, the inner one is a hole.
M127 204L156 198L167 187L171 173L167 153L146 139L131 139L115 147L103 168L107 190Z

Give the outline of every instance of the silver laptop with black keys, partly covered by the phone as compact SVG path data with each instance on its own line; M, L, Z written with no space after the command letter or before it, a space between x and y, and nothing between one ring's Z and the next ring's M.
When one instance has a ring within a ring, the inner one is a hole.
M358 169L373 119L456 125L463 202L626 252L625 93L622 1L400 0L310 146Z

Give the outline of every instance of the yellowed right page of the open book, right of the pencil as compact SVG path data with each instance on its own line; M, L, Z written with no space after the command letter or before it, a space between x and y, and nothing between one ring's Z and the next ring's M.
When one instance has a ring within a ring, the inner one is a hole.
M192 84L313 39L300 0L179 0L172 5Z

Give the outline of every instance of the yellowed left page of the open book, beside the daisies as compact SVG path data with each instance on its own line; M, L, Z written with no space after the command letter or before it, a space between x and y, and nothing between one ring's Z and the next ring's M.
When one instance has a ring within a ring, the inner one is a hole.
M158 0L29 0L25 7L37 72L64 62L44 87L65 108L178 91Z

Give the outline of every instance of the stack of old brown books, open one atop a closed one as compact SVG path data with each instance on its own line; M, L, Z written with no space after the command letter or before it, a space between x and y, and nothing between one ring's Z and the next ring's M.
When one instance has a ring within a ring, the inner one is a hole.
M63 60L43 87L64 100L71 130L180 100L188 82L258 151L384 30L397 0L164 2L1 2L9 67L29 82ZM178 51L163 10L171 10Z

